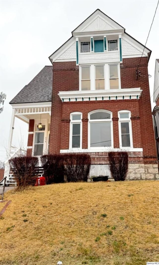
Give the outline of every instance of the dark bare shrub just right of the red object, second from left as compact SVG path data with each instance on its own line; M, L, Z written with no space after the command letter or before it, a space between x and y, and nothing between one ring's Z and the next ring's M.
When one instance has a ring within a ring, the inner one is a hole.
M64 182L64 163L61 155L41 156L46 184Z

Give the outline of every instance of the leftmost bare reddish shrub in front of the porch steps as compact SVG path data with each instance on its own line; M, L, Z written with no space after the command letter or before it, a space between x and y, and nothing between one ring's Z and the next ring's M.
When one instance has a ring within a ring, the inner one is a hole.
M31 156L14 157L9 160L10 170L13 172L17 189L25 189L36 183L38 175L38 158Z

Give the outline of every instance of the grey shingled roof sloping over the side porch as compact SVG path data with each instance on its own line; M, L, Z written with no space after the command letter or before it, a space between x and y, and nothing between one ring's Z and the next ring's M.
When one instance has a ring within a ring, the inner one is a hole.
M14 103L48 102L52 97L52 65L45 66L33 80L10 101Z

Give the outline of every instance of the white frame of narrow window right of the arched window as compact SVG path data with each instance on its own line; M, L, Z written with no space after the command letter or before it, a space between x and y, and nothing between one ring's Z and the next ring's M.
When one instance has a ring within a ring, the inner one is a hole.
M129 118L120 118L120 114L129 113ZM118 111L118 127L119 127L119 146L120 149L130 149L133 148L133 135L132 135L132 126L131 126L131 112L128 110L121 110ZM122 147L122 139L121 139L121 123L122 122L129 122L129 135L130 135L130 146L123 146Z

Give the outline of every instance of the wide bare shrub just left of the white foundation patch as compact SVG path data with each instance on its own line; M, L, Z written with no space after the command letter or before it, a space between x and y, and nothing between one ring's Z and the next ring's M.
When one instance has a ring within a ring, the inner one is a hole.
M64 154L63 161L68 182L87 181L91 166L88 154Z

